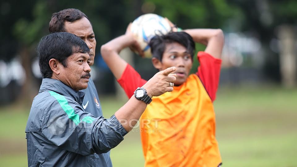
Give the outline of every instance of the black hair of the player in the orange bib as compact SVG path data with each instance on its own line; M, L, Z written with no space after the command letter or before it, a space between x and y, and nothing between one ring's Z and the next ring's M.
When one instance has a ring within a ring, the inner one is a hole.
M165 51L166 44L177 42L183 45L191 54L192 60L195 50L195 42L192 36L186 32L169 32L165 35L156 35L149 41L149 46L153 57L162 61L163 53Z

